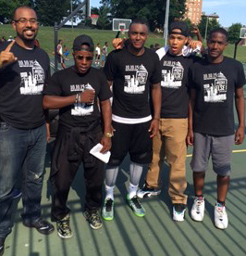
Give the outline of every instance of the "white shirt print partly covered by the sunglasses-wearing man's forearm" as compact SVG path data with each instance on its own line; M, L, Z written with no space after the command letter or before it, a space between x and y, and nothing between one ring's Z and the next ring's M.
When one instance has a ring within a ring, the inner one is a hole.
M84 90L93 90L93 87L90 83L70 85L71 92L84 92ZM74 103L74 108L71 109L72 116L88 116L92 115L92 112L93 103Z

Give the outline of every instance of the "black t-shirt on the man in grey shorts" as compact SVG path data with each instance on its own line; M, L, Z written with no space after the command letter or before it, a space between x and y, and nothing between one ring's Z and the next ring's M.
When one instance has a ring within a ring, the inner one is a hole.
M203 59L191 66L189 77L191 88L196 90L194 132L218 136L234 134L234 93L245 84L242 64L227 57L219 64Z

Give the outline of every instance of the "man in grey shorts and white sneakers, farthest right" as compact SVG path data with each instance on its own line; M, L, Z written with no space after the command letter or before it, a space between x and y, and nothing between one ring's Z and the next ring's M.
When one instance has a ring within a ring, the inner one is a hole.
M223 56L228 45L228 32L216 29L207 40L208 56L191 66L191 99L189 134L187 141L194 145L191 168L195 190L191 218L202 222L204 215L203 183L207 163L212 156L217 174L217 201L215 226L228 227L225 201L228 193L232 147L244 138L245 76L241 63ZM239 127L234 132L233 100L239 117Z

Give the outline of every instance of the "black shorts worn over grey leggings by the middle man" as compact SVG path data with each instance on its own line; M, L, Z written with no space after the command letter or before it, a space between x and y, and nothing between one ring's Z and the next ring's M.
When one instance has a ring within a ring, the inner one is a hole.
M115 128L112 137L111 157L108 165L119 166L129 153L130 160L139 164L152 160L152 139L148 132L151 121L137 124L112 122Z

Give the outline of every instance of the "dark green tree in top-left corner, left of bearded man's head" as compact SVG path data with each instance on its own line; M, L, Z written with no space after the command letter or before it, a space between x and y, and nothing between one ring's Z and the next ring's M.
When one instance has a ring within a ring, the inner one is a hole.
M31 6L31 0L0 0L0 22L8 23L12 20L13 10L18 6Z

